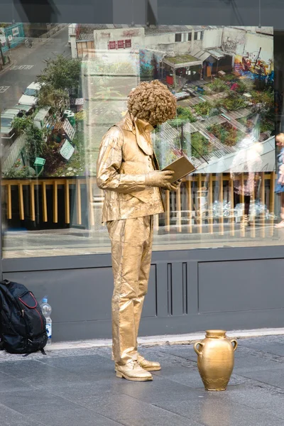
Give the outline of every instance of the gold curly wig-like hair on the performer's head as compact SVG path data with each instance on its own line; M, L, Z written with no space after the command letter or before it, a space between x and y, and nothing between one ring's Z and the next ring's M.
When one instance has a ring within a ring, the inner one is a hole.
M131 90L128 109L134 117L156 126L175 118L177 100L165 84L153 80Z

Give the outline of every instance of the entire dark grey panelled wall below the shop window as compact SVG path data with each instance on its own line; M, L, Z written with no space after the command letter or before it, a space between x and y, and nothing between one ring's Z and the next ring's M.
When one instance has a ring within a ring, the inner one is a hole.
M283 327L283 247L154 252L141 336ZM284 256L283 256L284 257ZM111 256L6 259L53 306L55 341L111 337Z

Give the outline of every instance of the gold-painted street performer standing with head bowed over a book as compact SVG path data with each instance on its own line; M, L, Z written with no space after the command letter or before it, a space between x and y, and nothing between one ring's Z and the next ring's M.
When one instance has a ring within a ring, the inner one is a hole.
M153 214L164 212L161 188L171 171L159 171L151 131L176 116L176 99L164 84L143 82L129 94L128 112L102 139L97 185L104 190L102 221L111 239L113 358L117 377L149 381L158 362L137 351L143 300L148 289L153 242Z

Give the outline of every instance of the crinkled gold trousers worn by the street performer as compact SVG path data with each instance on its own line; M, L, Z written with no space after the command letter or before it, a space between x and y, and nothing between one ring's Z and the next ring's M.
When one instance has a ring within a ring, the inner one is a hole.
M148 290L153 243L153 216L107 222L111 239L114 294L112 354L118 364L137 359L137 335Z

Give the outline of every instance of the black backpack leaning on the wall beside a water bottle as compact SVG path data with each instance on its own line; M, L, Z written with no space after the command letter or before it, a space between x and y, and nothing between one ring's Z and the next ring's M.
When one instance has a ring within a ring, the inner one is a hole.
M10 354L45 354L45 326L45 317L31 291L8 280L0 283L0 349Z

